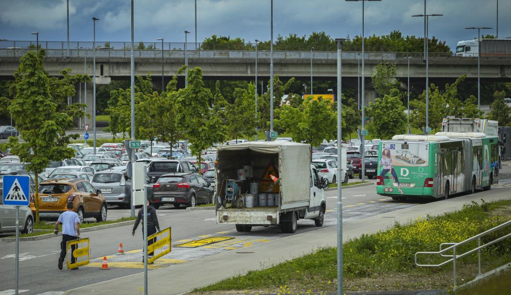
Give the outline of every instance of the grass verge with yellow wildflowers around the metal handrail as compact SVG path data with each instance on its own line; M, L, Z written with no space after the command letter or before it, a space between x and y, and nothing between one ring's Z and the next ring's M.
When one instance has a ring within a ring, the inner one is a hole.
M438 251L440 243L459 242L509 220L511 200L492 203L472 202L459 211L437 217L426 216L413 222L371 235L362 235L344 243L344 289L361 290L428 290L452 287L452 264L439 268L422 268L414 264L418 251ZM509 232L509 230L508 230ZM506 232L507 233L507 232ZM489 242L505 233L486 236ZM468 244L459 253L476 247ZM511 261L511 241L504 240L482 251L482 272ZM445 258L447 259L447 258ZM423 263L438 263L435 258ZM444 259L442 259L444 261ZM229 278L210 286L194 289L196 293L221 294L226 290L250 293L335 292L337 249L325 248L260 271ZM457 262L458 284L477 275L477 255Z

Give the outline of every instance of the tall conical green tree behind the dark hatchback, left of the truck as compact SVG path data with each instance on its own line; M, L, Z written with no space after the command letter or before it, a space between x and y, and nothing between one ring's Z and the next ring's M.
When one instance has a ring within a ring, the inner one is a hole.
M201 68L188 70L188 86L179 89L181 110L177 116L185 138L192 143L192 154L199 158L199 167L202 150L216 142L224 142L227 133L227 127L219 114L222 111L219 108L221 103L214 102L215 107L210 108L213 99L211 90L204 87Z

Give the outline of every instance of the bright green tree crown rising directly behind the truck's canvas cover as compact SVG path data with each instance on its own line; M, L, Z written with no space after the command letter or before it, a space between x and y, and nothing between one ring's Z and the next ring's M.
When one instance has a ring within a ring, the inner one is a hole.
M286 130L296 142L318 146L337 134L337 114L329 100L307 97L300 108L284 105L275 112L275 126Z

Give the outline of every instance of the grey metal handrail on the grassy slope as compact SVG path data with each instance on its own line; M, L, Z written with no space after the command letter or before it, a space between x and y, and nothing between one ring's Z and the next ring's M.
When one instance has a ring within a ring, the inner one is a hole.
M485 236L487 234L491 234L491 233L493 233L495 231L498 231L498 230L503 229L503 228L508 227L508 226L511 226L511 220L509 220L508 222L505 222L505 223L503 223L501 225L498 225L498 226L496 226L494 228L491 228L491 229L489 229L487 231L484 231L484 232L482 232L482 233L480 233L478 235L475 235L475 236L470 237L470 238L468 238L466 240L463 240L463 241L461 241L459 243L442 243L442 244L440 244L440 250L439 251L417 252L417 253L415 253L415 265L422 266L422 267L439 267L439 266L442 266L442 265L445 265L447 263L452 262L453 263L453 285L454 285L454 287L456 287L456 260L460 259L462 257L465 257L467 255L470 255L470 254L472 254L472 253L477 251L478 252L478 263L479 263L478 272L479 272L479 276L480 276L481 275L481 249L486 248L486 247L488 247L490 245L493 245L493 244L495 244L497 242L500 242L500 241L502 241L502 240L504 240L504 239L506 239L508 237L511 237L511 233L503 235L503 236L501 236L499 238L496 238L496 239L494 239L494 240L492 240L490 242L487 242L487 243L485 243L483 245L481 245L481 237L483 237L483 236ZM456 254L456 248L457 247L460 247L461 245L467 244L467 243L469 243L471 241L475 241L476 239L478 240L478 247L477 248L471 249L471 250L469 250L469 251L467 251L465 253L462 253L462 254ZM450 246L448 248L443 249L443 247L445 245L450 245ZM451 251L451 250L452 250L452 255L444 254L445 252ZM448 260L446 260L446 261L444 261L442 263L438 263L438 264L420 264L420 263L417 262L417 256L419 256L419 255L438 255L438 254L440 256L442 256L442 257L451 257L451 259L448 259Z

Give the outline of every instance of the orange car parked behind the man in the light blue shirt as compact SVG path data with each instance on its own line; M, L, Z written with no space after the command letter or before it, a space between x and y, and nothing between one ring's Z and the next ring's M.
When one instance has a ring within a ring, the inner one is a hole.
M83 179L48 179L39 184L39 215L58 217L67 211L67 202L74 203L74 211L83 218L106 220L107 206L99 189ZM30 196L30 209L35 215L34 195Z

